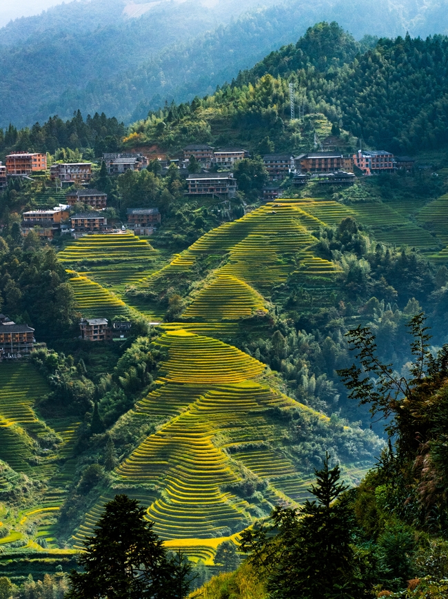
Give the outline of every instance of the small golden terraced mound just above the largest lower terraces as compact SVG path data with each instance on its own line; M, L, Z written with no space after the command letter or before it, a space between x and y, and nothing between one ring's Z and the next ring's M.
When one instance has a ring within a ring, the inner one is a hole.
M205 286L183 313L183 318L208 321L238 320L254 311L266 311L265 300L236 277L218 275Z

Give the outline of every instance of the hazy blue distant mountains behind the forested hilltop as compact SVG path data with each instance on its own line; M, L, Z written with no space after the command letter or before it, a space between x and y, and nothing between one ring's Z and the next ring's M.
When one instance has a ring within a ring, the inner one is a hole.
M358 39L448 31L441 0L274 1L82 0L12 21L0 29L0 126L77 108L143 117L165 99L212 92L316 21L336 20Z

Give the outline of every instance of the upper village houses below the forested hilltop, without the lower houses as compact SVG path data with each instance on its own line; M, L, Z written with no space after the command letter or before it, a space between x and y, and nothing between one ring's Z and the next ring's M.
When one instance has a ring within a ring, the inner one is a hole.
M218 198L231 198L236 195L237 181L233 175L235 164L247 158L249 153L242 148L221 148L215 150L208 144L190 144L183 148L182 156L174 160L159 159L161 169L174 163L179 167L181 177L186 180L185 194L190 197L215 195ZM196 160L198 173L190 173L190 161ZM149 157L141 153L105 153L103 161L110 175L120 175L128 170L140 171L149 164ZM355 179L354 170L363 175L391 173L397 168L412 168L410 158L394 157L385 150L359 150L353 155L338 152L315 152L294 156L267 154L263 163L269 174L269 184L263 188L263 198L267 201L281 196L281 182L292 176L294 186L302 186L308 181L319 184L349 184ZM29 177L33 173L46 170L47 157L43 153L11 153L6 157L6 166L0 163L0 190L6 186L8 177ZM92 179L92 163L61 163L50 166L50 177L58 180L61 187L76 185L68 191L65 204L51 210L28 210L23 213L22 231L28 235L35 230L45 239L52 239L59 233L70 233L81 237L92 233L116 231L108 224L103 212L107 205L107 195L89 187ZM88 211L77 212L76 206L84 204ZM127 223L122 230L134 230L136 235L151 235L161 224L157 208L129 208Z

